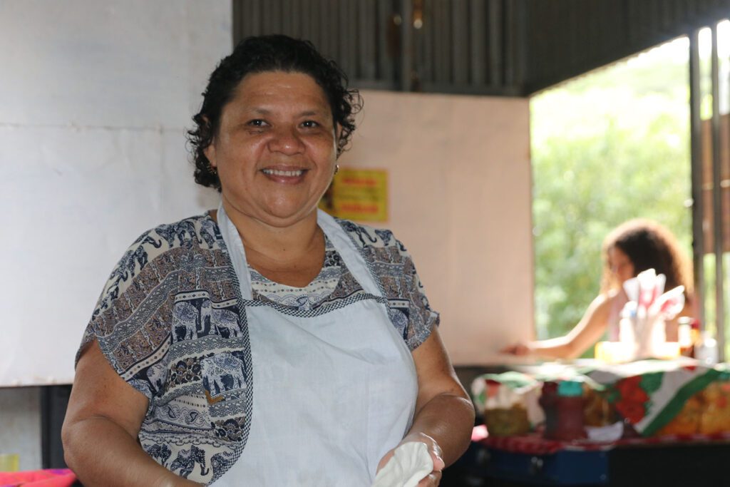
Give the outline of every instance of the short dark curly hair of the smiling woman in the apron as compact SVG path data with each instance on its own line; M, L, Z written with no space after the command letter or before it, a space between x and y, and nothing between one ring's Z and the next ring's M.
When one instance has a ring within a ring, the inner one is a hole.
M247 74L271 71L309 74L320 85L329 101L332 119L341 127L337 156L347 149L362 99L357 90L347 88L347 76L342 69L334 61L323 58L309 41L280 34L248 37L218 63L203 93L200 112L193 116L196 128L188 131L188 142L196 183L220 191L218 173L212 170L204 150L218 134L223 107L231 101L243 78Z

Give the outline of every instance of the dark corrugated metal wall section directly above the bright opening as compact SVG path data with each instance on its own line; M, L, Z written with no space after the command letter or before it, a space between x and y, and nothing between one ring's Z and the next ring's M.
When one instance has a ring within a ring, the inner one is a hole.
M728 0L529 0L529 94L730 16Z

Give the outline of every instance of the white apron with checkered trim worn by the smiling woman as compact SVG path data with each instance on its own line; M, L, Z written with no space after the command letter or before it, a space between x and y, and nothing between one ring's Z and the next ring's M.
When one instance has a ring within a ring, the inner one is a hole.
M218 223L241 285L253 413L243 453L214 485L369 487L378 461L410 428L418 379L364 258L318 211L318 225L372 296L314 312L254 302L244 248L222 204Z

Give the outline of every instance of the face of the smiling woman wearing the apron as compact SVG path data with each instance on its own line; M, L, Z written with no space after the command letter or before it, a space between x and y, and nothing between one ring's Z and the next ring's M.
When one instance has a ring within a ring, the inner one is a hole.
M325 93L299 72L248 74L205 154L226 210L277 227L314 215L337 158Z

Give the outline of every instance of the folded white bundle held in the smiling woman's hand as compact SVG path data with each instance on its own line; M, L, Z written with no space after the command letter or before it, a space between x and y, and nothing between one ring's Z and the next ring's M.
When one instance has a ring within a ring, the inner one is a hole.
M396 448L393 457L377 472L372 487L415 487L434 471L426 443L407 442Z

